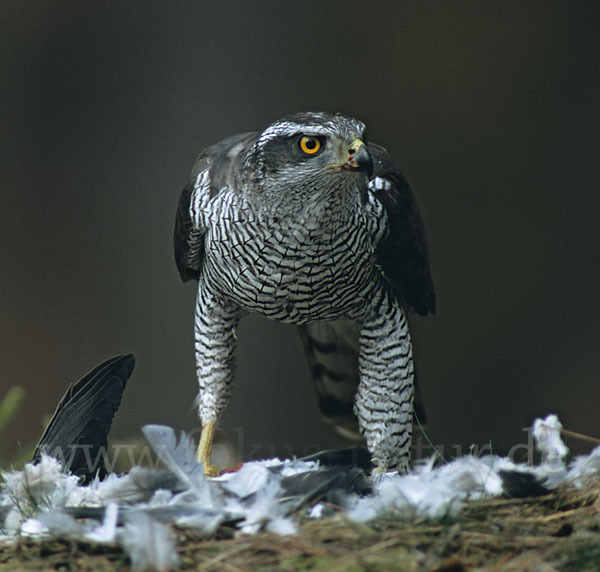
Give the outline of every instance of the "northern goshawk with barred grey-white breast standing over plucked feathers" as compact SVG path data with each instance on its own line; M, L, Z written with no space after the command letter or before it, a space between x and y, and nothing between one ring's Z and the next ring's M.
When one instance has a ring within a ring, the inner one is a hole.
M198 459L209 474L236 328L248 312L301 326L325 415L336 422L355 393L373 462L408 468L414 373L406 311L433 313L435 294L414 195L387 151L365 142L364 127L340 114L297 113L224 139L196 160L177 210L175 258L184 281L198 280ZM330 343L336 338L341 344ZM357 373L328 365L344 359Z

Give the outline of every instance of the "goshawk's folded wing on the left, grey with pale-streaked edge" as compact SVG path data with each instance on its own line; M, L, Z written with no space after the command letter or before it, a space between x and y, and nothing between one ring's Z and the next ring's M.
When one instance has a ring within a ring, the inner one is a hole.
M222 189L236 188L242 157L256 137L257 133L228 137L200 153L194 163L179 197L173 237L175 262L184 282L198 280L202 268L205 228L197 210Z

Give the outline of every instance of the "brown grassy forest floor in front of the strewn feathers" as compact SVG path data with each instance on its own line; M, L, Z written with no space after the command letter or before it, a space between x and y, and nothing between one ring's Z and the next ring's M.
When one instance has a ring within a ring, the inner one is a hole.
M387 571L600 570L600 482L526 499L470 501L442 522L385 518L368 524L341 512L300 517L298 533L242 535L221 527L211 539L176 529L182 570ZM0 547L0 572L129 570L117 546L22 539Z

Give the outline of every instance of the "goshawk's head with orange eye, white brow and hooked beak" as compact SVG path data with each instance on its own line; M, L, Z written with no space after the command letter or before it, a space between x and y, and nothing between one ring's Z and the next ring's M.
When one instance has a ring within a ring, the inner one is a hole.
M356 188L372 171L364 124L333 113L297 113L267 127L249 149L244 168L261 191L286 200Z

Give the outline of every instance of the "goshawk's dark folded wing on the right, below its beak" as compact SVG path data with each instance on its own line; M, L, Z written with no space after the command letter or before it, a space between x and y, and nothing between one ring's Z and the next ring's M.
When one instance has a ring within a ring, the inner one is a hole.
M368 144L373 159L369 190L382 203L388 232L377 247L377 262L403 305L421 316L435 313L425 226L415 196L388 152Z

